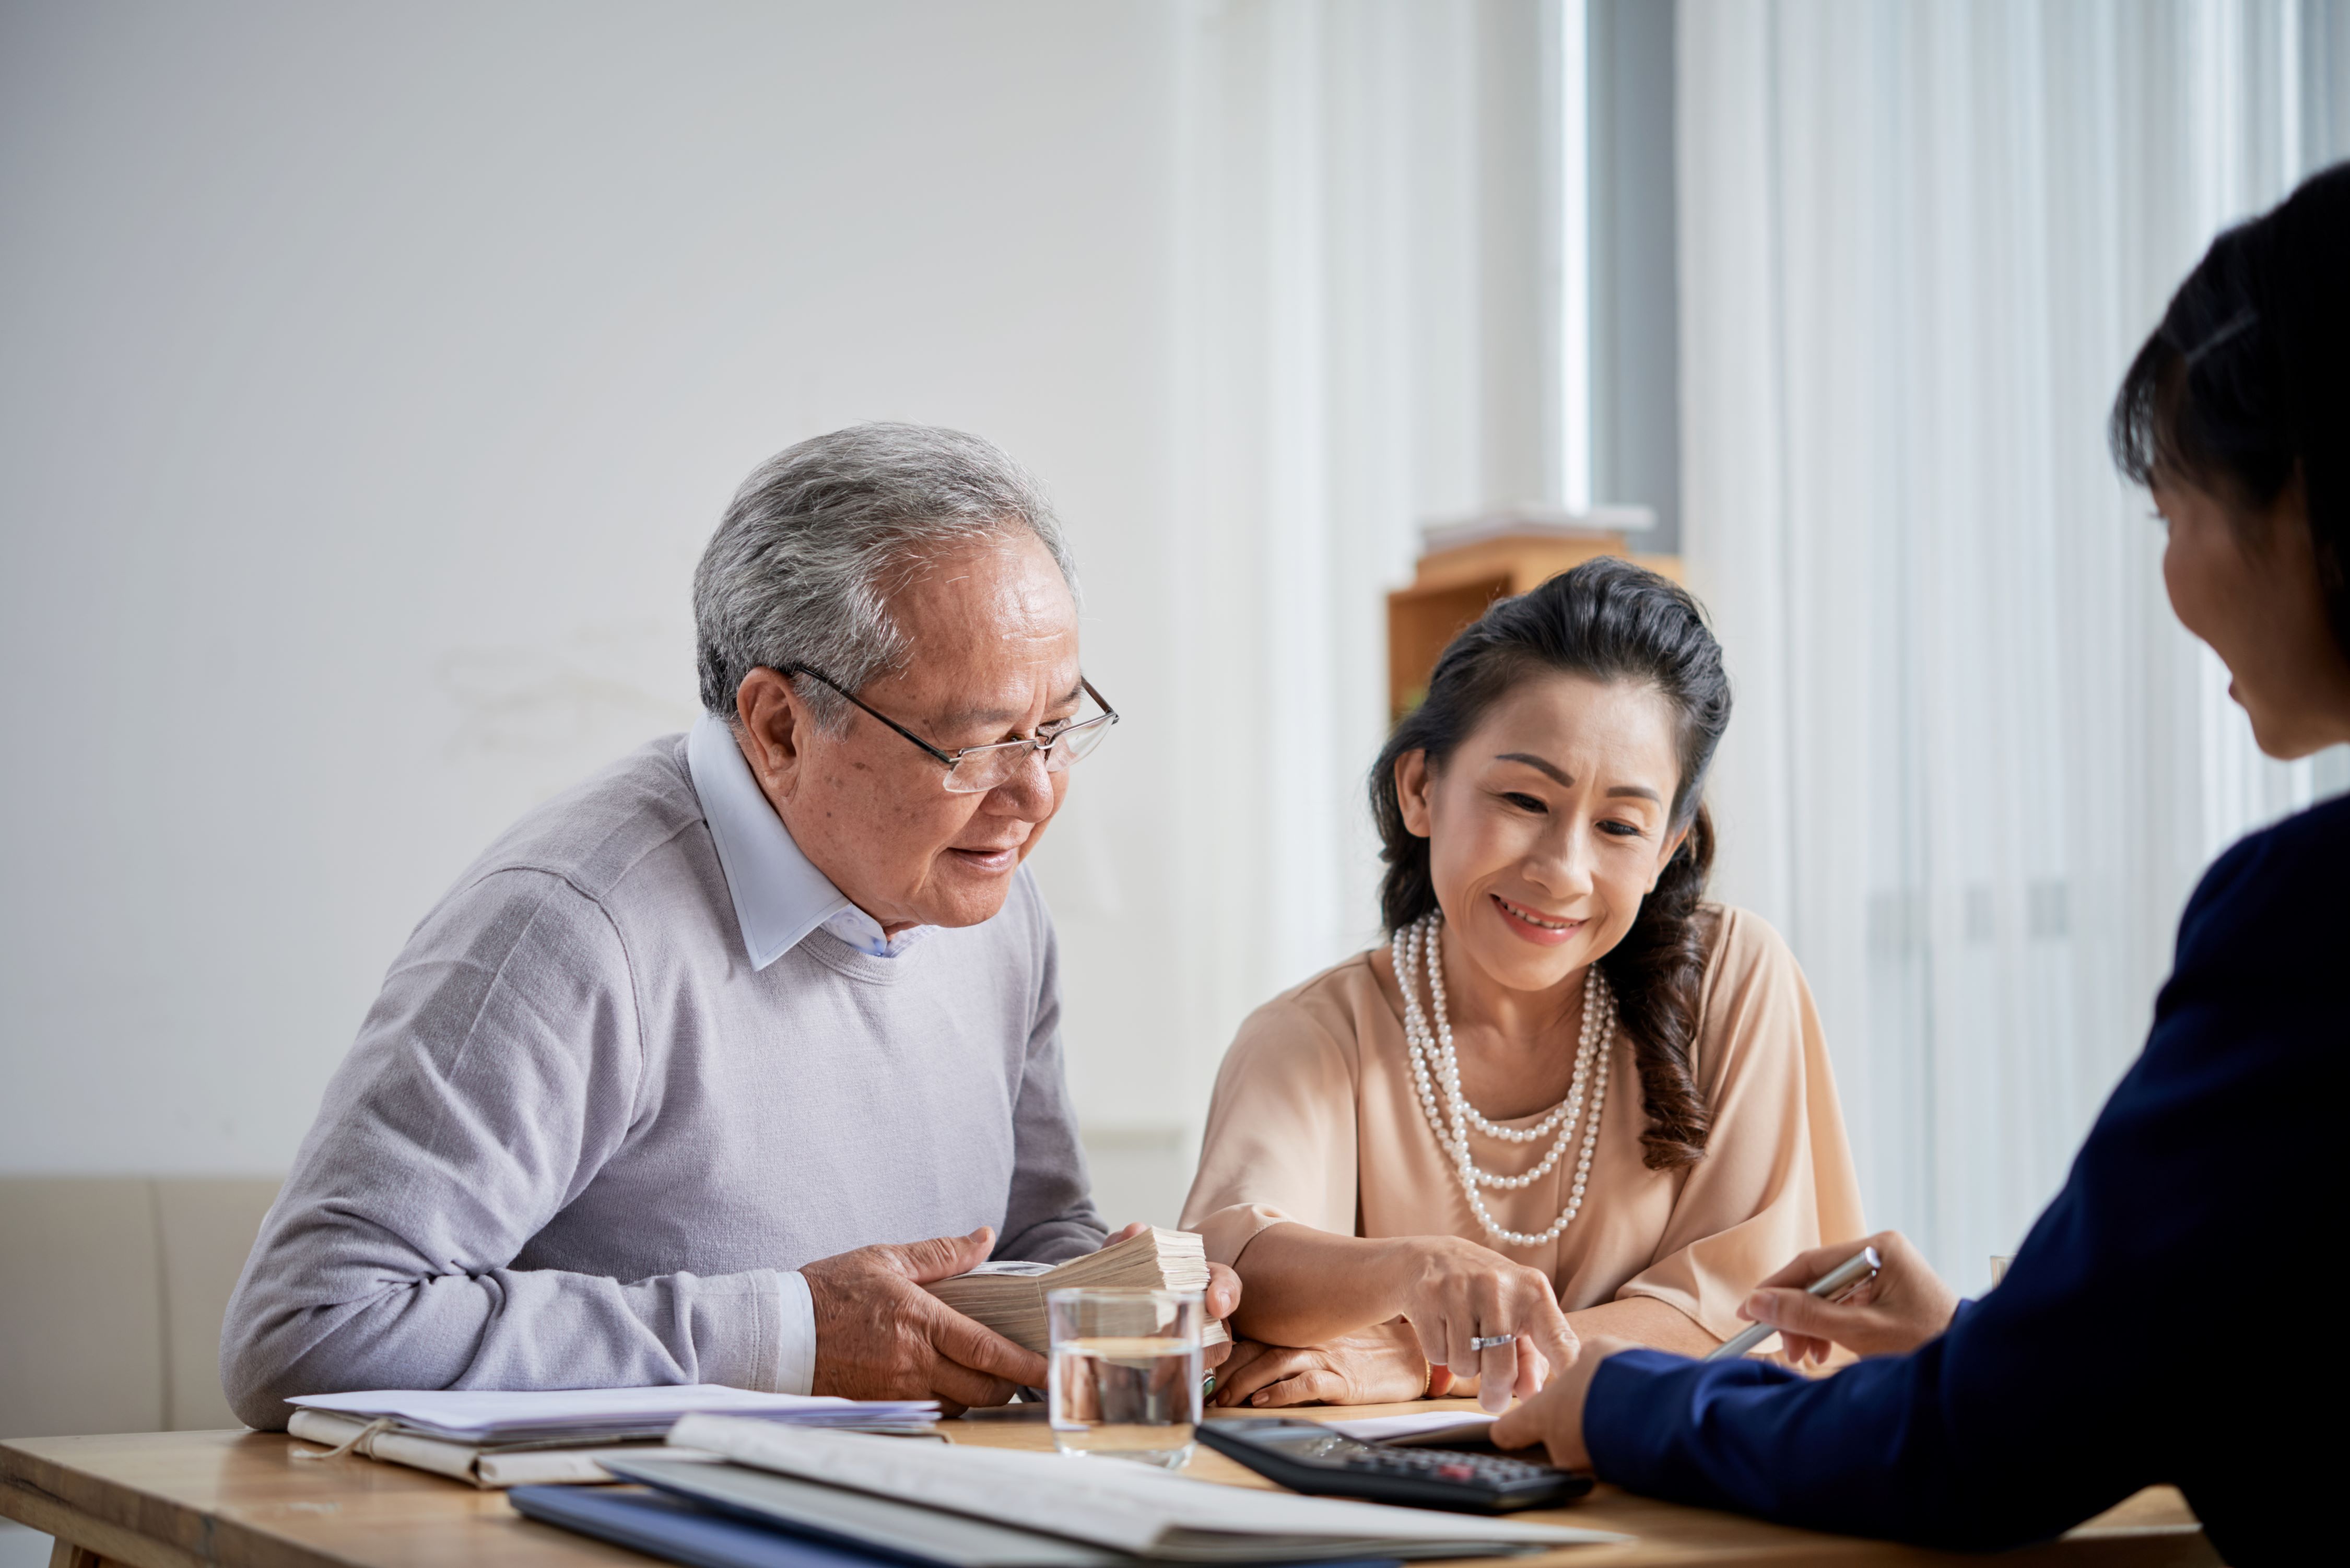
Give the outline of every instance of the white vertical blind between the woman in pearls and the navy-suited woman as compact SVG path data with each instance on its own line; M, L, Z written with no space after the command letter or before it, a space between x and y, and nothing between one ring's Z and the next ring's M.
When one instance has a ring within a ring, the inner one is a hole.
M1967 1288L2136 1056L2263 759L2106 456L2209 240L2350 153L2345 9L1683 0L1683 548L1720 896L1819 997L1871 1222Z

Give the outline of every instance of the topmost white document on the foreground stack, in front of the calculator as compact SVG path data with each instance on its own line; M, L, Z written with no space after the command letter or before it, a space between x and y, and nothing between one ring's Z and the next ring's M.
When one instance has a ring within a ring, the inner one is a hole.
M797 1432L728 1415L689 1415L670 1432L670 1441L804 1481L921 1502L1137 1556L1194 1563L1267 1556L1457 1556L1471 1547L1631 1540L1610 1530L1217 1486L1123 1460L895 1443L848 1432Z

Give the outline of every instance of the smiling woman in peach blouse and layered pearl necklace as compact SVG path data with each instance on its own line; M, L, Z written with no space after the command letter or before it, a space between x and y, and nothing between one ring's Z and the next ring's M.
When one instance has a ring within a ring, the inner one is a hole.
M1445 649L1372 769L1391 945L1257 1009L1184 1225L1248 1286L1220 1403L1478 1389L1577 1333L1701 1352L1861 1229L1795 959L1701 900L1723 654L1596 559Z

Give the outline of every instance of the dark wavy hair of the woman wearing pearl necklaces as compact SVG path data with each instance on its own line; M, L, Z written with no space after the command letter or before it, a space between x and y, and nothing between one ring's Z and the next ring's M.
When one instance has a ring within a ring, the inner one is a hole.
M1631 931L1600 959L1640 1065L1643 1159L1652 1171L1671 1171L1706 1152L1713 1126L1690 1065L1706 971L1697 900L1713 867L1704 780L1730 724L1730 677L1697 599L1645 567L1603 555L1532 592L1495 602L1455 637L1436 661L1426 701L1396 724L1370 769L1370 813L1386 860L1379 914L1389 931L1401 931L1436 907L1429 842L1403 825L1396 759L1426 752L1429 769L1441 769L1504 693L1544 675L1654 686L1678 717L1680 785L1666 820L1671 830L1687 827L1690 837L1673 851L1657 891L1640 900Z

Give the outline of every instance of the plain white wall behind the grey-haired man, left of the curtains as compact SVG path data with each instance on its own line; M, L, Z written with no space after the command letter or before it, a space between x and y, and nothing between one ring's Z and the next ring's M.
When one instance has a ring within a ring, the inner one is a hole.
M689 722L733 484L877 416L1069 522L1128 710L1039 851L1074 1077L1184 1121L1119 853L1170 741L1173 26L0 12L0 1168L282 1168L439 889Z

